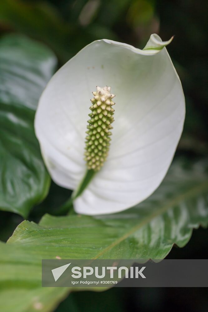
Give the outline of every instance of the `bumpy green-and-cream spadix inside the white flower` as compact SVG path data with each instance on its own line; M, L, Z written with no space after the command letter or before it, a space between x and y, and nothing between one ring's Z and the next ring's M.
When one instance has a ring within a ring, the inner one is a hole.
M110 87L107 85L104 88L97 86L97 91L93 92L94 98L91 99L92 105L88 120L86 136L86 151L85 160L88 169L100 170L104 161L108 156L110 146L110 135L112 123L114 122L114 109L112 106L115 104L112 99L114 94L110 93Z

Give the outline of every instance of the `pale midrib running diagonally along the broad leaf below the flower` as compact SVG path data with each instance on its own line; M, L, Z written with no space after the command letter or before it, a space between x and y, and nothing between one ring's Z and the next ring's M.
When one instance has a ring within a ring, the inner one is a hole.
M183 194L180 194L179 196L175 197L172 200L167 201L160 209L157 209L155 212L150 214L148 217L144 218L141 223L134 226L130 231L126 232L123 236L118 238L114 243L109 245L108 247L104 248L97 256L95 256L93 259L98 259L100 256L102 256L105 252L109 251L110 249L114 248L116 245L124 241L126 238L128 238L130 235L132 235L134 232L138 231L140 228L142 228L144 225L148 224L150 221L152 221L155 217L158 217L162 213L166 212L171 207L176 206L179 202L186 200L186 198L195 197L198 193L202 193L204 189L208 188L208 181L205 181L201 184L198 184L197 186L189 189Z

